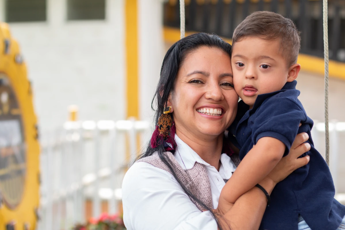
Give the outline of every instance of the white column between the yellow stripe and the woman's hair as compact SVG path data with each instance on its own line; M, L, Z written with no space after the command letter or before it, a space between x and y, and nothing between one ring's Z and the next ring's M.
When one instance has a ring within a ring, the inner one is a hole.
M151 100L164 57L163 1L138 0L139 119L151 122Z

